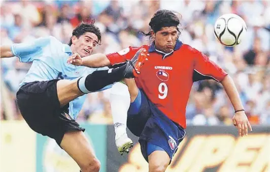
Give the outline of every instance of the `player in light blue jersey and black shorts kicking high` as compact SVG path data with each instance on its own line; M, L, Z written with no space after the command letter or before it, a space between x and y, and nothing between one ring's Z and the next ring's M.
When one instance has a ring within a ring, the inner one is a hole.
M100 163L83 133L85 129L75 121L85 94L137 76L145 59L137 54L115 69L74 66L66 63L69 57L76 56L73 62L78 58L83 61L100 43L101 34L93 23L82 23L72 35L69 45L50 36L1 46L1 58L18 56L20 62L32 62L17 92L18 107L29 127L55 139L81 171L99 171Z

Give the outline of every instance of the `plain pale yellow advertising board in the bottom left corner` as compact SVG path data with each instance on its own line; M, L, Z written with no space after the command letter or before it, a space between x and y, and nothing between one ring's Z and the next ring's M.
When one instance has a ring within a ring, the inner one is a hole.
M1 121L0 171L36 170L36 133L24 121Z

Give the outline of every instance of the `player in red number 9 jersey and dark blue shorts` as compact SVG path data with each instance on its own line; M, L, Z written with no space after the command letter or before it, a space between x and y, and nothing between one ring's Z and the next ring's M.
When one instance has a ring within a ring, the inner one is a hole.
M157 11L149 23L151 32L145 34L153 38L151 45L129 47L107 55L94 54L75 64L115 66L131 59L138 51L142 55L148 53L140 76L135 80L126 79L127 86L119 82L113 86L111 106L116 138L125 134L124 129L119 134L117 128L125 128L128 113L127 127L140 137L141 151L151 172L165 171L185 136L185 108L194 81L220 82L235 109L233 123L239 134L247 135L248 128L252 130L232 79L205 54L178 40L179 24L179 18L172 11ZM124 140L122 147L118 143L121 141L116 140L121 152L129 143L121 136L119 139Z

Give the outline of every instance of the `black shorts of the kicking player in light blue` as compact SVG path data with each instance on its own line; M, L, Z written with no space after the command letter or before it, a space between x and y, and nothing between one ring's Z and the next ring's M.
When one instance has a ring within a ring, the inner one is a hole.
M64 133L85 129L69 116L69 104L60 107L57 81L34 81L23 85L17 92L17 103L29 127L55 139L60 146Z

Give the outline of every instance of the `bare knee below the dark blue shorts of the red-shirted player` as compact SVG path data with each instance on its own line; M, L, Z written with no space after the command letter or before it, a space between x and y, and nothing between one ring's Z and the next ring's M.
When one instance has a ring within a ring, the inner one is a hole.
M161 158L162 157L162 158ZM165 151L156 150L148 156L149 172L163 172L170 164L171 158Z

